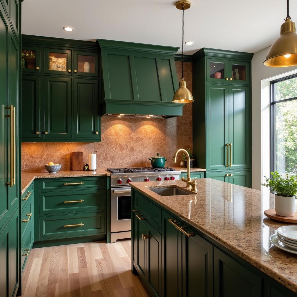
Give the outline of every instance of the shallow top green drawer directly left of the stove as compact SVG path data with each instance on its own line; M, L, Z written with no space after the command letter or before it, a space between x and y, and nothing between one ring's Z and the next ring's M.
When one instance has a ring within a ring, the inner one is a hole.
M83 177L83 178L53 178L39 181L39 189L43 190L77 190L88 188L104 188L106 177Z

